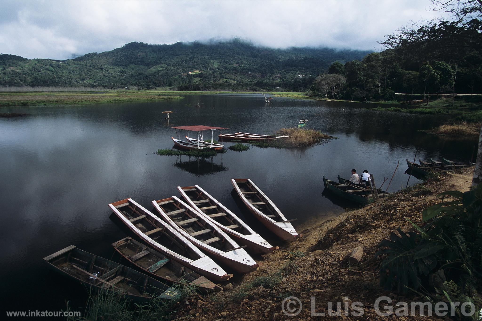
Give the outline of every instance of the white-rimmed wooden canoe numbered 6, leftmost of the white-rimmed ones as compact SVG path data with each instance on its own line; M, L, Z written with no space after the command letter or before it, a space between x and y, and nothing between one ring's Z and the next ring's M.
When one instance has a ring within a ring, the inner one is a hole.
M165 256L214 282L227 281L233 276L193 246L181 233L133 199L127 198L111 203L109 207L148 246L152 246Z

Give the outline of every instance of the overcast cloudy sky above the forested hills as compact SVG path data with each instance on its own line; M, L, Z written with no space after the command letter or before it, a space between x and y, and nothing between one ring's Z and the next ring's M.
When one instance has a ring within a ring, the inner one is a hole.
M131 41L240 37L254 44L380 50L410 20L440 15L429 0L2 0L0 52L68 59Z

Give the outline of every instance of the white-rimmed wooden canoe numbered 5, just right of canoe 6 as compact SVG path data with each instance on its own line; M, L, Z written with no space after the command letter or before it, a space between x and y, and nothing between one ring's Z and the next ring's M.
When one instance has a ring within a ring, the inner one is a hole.
M176 196L152 201L159 216L185 238L219 262L239 273L258 269L252 257L223 232L209 218L181 201Z

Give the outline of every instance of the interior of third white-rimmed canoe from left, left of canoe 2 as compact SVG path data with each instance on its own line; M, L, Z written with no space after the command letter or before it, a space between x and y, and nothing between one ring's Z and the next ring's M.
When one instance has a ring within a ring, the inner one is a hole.
M226 212L223 208L219 207L213 200L195 186L181 187L181 189L191 201L198 205L198 208L202 213L214 219L219 224L243 235L253 234L238 222L229 211ZM203 207L207 208L203 209Z

